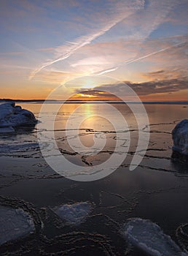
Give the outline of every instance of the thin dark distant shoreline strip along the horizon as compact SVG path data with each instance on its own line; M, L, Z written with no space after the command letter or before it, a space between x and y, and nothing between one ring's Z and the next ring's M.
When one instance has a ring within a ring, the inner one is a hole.
M98 100L82 100L82 99L70 99L67 101L63 100L58 100L58 99L0 99L0 103L3 102L34 102L34 103L43 103L46 102L48 104L50 103L64 103L64 104L77 104L77 103L88 103L88 104L100 104L103 102L109 102L111 104L121 104L123 101L114 101L110 99L98 99ZM136 102L136 101L125 101L128 102L129 104L163 104L163 105L188 105L188 101L141 101L141 102Z

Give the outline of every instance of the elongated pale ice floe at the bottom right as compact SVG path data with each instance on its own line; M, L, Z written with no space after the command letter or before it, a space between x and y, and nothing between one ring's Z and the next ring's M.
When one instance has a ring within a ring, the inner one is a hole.
M161 228L147 219L130 219L123 227L123 235L131 244L152 256L186 256Z

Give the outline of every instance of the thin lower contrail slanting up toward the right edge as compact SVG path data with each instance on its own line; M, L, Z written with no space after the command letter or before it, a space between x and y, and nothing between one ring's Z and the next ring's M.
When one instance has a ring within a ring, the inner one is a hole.
M111 67L110 69L105 69L105 70L103 70L103 71L101 71L101 72L99 72L99 73L97 73L97 74L94 74L94 75L103 75L104 73L109 73L109 72L115 71L115 70L117 70L119 67L121 67L123 64L128 65L128 64L131 64L131 63L133 63L133 62L140 61L141 59L148 58L149 56L152 56L152 55L157 54L157 53L161 53L162 51L171 49L171 48L176 47L176 46L179 46L179 45L183 45L185 42L187 42L187 41L179 42L179 43L177 43L176 45L171 45L171 46L162 48L162 49L157 50L157 51L155 51L155 52L153 52L153 53L149 53L149 54L147 54L147 55L145 55L145 56L139 57L139 58L137 58L137 59L133 59L133 60L131 60L131 61L125 61L125 62L123 62L122 64L120 64L120 65L118 65L118 66L116 66L116 67Z

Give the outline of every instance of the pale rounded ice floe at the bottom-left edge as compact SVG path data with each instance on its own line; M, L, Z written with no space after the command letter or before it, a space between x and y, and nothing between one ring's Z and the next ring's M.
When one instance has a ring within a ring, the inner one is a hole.
M34 232L34 221L21 208L0 206L0 245Z

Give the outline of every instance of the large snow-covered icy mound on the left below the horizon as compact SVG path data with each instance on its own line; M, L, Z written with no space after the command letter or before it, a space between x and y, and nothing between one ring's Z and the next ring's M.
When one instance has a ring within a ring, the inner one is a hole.
M15 106L15 102L0 105L0 133L15 132L15 127L36 124L34 113Z

